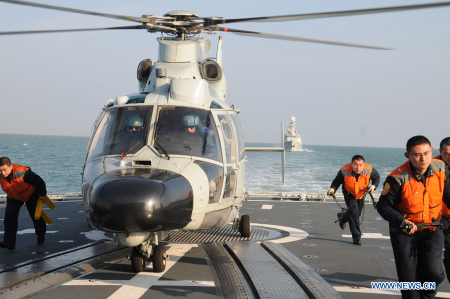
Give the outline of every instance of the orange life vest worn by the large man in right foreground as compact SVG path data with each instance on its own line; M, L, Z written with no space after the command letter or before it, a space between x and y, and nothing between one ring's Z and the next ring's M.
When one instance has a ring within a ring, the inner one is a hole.
M445 163L431 159L430 167L432 175L425 177L425 186L414 178L409 161L389 174L401 186L401 200L397 204L397 210L414 224L429 223L432 218L440 220L442 216ZM433 226L424 228L435 229Z

